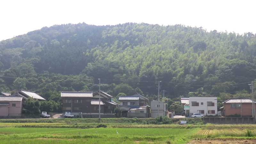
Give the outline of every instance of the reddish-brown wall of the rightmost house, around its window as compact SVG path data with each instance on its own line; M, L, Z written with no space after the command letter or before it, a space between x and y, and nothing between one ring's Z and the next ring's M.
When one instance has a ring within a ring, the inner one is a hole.
M225 116L241 115L241 108L231 108L230 103L224 104ZM242 103L242 116L252 116L252 103Z

